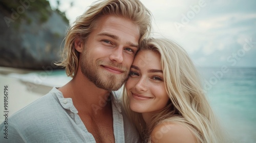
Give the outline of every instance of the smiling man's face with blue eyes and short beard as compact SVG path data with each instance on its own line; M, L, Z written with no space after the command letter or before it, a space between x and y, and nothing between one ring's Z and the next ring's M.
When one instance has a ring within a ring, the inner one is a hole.
M81 71L97 87L119 89L138 51L139 26L117 16L99 19L80 57Z

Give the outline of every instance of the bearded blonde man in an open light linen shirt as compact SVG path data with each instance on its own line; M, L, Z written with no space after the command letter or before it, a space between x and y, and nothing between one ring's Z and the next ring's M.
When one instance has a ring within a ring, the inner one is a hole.
M69 29L63 59L73 79L9 118L4 142L138 142L117 96L151 13L139 0L94 3Z

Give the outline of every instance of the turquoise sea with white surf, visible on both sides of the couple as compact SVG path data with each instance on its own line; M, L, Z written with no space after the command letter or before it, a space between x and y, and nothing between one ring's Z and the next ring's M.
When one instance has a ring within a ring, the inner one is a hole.
M256 142L256 67L198 67L204 91L223 130L232 142ZM10 74L36 84L62 86L71 78L65 70Z

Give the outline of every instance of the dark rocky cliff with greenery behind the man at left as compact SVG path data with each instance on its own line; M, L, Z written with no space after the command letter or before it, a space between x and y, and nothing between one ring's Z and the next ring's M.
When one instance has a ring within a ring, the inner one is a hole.
M58 68L69 26L64 13L46 0L1 0L0 19L0 66Z

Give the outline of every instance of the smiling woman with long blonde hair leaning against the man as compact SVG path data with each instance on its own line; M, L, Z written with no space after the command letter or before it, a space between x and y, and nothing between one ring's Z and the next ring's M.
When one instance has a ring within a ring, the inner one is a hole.
M193 62L173 41L144 41L123 103L146 142L226 142Z

